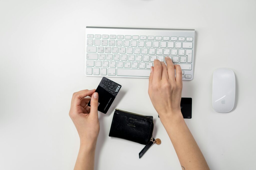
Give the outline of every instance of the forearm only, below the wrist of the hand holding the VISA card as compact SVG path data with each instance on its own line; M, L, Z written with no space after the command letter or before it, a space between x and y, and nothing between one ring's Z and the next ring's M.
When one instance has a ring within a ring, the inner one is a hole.
M93 170L96 144L80 144L74 170Z

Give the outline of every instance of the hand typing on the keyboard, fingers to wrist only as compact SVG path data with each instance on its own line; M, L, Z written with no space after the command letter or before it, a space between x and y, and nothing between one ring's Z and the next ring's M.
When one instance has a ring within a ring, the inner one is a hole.
M154 60L148 85L148 95L162 122L166 116L181 114L182 70L169 57L165 61L167 67L164 62Z

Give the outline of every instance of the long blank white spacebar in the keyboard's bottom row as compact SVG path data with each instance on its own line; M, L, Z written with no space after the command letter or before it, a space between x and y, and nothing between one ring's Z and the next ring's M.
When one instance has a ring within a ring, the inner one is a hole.
M150 70L117 69L116 75L120 75L120 76L143 76L143 77L149 77Z

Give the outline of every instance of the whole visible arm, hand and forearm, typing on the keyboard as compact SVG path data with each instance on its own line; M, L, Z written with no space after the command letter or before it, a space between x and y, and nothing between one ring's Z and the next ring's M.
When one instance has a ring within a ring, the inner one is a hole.
M154 61L149 77L148 94L172 141L183 169L209 169L194 137L189 131L181 110L182 70L169 57ZM175 72L176 70L176 78Z

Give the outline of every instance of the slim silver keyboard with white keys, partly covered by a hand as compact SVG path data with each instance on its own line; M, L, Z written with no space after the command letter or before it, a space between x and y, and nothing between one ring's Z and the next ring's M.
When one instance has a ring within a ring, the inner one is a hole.
M195 30L86 27L86 76L148 78L169 56L192 80Z

